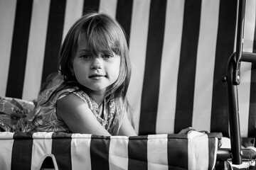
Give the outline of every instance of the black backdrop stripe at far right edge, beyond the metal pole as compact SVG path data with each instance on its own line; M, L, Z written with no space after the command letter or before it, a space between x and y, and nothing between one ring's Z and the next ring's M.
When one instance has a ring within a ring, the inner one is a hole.
M256 26L252 52L256 53ZM251 83L250 83L250 106L248 120L248 137L256 137L256 64L252 63ZM256 145L256 144L255 144Z

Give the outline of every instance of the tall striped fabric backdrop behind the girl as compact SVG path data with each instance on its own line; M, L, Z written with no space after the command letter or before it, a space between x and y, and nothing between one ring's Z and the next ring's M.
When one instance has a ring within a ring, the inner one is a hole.
M36 98L57 71L60 44L87 11L116 18L132 60L128 90L140 135L192 126L228 132L228 58L235 49L237 1L227 0L0 0L0 96ZM255 52L256 1L247 0L244 51ZM256 137L256 70L242 63L242 137ZM252 83L251 83L252 82Z

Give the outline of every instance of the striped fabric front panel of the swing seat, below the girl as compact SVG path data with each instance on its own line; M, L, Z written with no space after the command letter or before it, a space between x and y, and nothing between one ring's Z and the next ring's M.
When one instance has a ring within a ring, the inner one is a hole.
M213 169L218 139L188 135L102 137L36 132L0 133L1 169L40 169L46 157L55 169Z

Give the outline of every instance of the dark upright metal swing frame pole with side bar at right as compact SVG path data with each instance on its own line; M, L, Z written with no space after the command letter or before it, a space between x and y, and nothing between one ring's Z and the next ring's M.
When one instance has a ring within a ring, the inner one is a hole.
M238 85L240 84L241 62L256 63L256 54L242 52L243 35L245 24L245 2L238 0L238 30L236 40L236 52L228 60L227 76L225 81L228 84L228 113L230 121L231 158L233 164L242 164L243 152L240 141L240 119L238 107Z

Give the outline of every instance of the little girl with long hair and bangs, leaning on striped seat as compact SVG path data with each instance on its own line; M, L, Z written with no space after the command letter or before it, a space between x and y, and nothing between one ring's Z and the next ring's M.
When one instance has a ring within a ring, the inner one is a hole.
M127 41L117 21L102 13L78 19L60 48L58 68L23 131L137 135L126 98Z

